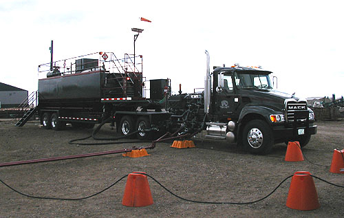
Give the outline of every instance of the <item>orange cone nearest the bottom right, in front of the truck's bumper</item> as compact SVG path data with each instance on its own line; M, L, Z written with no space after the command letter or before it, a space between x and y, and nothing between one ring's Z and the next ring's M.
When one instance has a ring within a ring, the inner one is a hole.
M320 207L318 194L310 172L299 171L292 176L287 198L288 208L315 210Z

